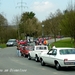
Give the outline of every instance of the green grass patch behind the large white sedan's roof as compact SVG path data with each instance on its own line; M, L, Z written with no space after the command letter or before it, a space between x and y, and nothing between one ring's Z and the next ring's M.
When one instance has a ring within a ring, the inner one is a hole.
M51 46L52 45L55 45L56 47L74 47L74 44L73 42L71 42L71 39L59 40L57 42L53 42Z

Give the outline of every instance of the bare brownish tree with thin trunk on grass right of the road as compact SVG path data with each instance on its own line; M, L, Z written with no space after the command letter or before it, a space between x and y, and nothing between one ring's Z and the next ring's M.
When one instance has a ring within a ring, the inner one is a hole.
M45 31L49 35L53 35L55 42L56 42L56 36L58 35L58 32L60 30L59 25L62 17L62 13L60 10L57 10L55 13L50 13L48 19L44 21L45 24ZM47 35L48 35L47 34Z

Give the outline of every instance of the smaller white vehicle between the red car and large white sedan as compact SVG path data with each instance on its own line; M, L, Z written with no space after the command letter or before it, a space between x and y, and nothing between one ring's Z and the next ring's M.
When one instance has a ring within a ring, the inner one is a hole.
M42 52L48 52L48 47L45 45L36 45L33 47L33 50L29 51L28 59L35 59L35 61L39 61L39 56Z

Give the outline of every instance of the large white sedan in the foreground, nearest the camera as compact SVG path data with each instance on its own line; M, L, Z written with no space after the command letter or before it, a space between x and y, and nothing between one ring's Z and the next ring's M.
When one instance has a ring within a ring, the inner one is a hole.
M49 64L57 70L61 67L75 67L75 48L53 48L40 55L41 65Z

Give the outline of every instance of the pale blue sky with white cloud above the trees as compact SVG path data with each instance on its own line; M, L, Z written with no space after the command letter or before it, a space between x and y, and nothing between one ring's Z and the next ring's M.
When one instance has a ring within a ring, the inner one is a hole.
M74 3L74 0L0 0L0 13L9 24L13 22L15 16L31 11L39 21L43 21L57 9L64 11L71 1Z

